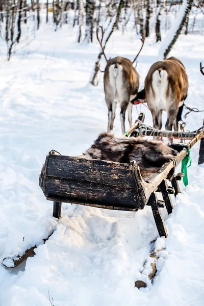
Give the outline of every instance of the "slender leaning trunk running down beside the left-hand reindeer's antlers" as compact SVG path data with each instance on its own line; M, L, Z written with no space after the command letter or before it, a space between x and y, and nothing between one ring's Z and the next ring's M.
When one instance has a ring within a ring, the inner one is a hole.
M118 5L118 8L117 8L117 14L116 14L116 17L115 17L115 20L114 20L114 23L112 25L112 28L110 29L110 32L108 33L107 35L107 38L106 38L106 41L104 43L104 49L106 47L106 44L107 42L109 41L111 35L113 34L114 30L117 28L117 25L118 25L118 22L119 22L119 18L120 18L120 14L121 14L121 10L122 10L122 7L123 7L123 0L120 0L119 2L119 5ZM108 31L108 30L107 30ZM102 42L103 43L103 42ZM98 74L98 70L99 70L99 63L100 63L100 59L103 55L103 52L100 52L98 54L98 58L97 58L97 61L95 62L95 65L94 65L94 73L93 73L93 77L90 81L90 83L92 85L97 85L96 84L96 78L97 78L97 74Z

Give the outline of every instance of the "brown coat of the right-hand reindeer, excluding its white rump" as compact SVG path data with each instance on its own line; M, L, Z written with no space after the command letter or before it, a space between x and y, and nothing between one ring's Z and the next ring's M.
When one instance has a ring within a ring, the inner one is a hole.
M166 91L166 110L168 118L165 129L171 131L173 125L174 130L178 131L176 116L179 111L179 106L184 103L188 93L188 77L185 67L180 60L174 57L170 57L167 60L153 64L146 76L146 101L152 114L153 125L155 129L161 130L163 109L157 109L157 106L154 105L154 102L152 102L155 98L157 99L154 88L152 86L152 75L157 70L159 73L162 70L166 70L167 72L168 86Z

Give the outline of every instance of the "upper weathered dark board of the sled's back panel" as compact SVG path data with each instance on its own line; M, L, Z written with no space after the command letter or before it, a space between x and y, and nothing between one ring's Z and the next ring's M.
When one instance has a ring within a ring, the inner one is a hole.
M130 164L51 155L46 175L125 188L135 188Z

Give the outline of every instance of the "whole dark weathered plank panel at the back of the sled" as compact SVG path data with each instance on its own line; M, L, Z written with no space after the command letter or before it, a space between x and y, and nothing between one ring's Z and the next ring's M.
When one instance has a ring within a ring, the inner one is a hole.
M132 164L49 154L40 187L48 200L118 210L141 208Z

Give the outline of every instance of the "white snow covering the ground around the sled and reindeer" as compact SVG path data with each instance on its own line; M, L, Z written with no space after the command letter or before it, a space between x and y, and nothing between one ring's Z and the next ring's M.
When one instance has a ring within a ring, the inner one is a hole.
M106 131L107 106L103 75L89 84L98 45L78 45L75 31L43 26L36 39L0 63L0 260L23 247L39 245L36 256L15 269L0 266L1 306L132 306L196 305L204 300L204 166L197 166L198 148L191 150L189 185L173 199L165 259L160 258L154 284L134 288L134 282L158 237L151 210L115 212L63 204L62 218L52 217L38 179L50 149L80 155L100 132ZM164 36L165 33L162 33ZM146 39L138 60L140 86L160 43ZM116 32L108 57L133 59L140 48L133 31ZM189 77L186 103L204 109L204 36L182 35L171 55L181 59ZM103 69L101 64L101 69ZM148 110L145 122L152 124ZM184 111L185 113L185 111ZM133 119L138 116L133 109ZM202 125L203 113L187 117L186 130ZM165 114L163 116L165 122ZM114 133L120 135L119 109ZM129 127L126 122L126 129ZM54 234L42 239L56 228ZM48 296L49 292L49 296Z

